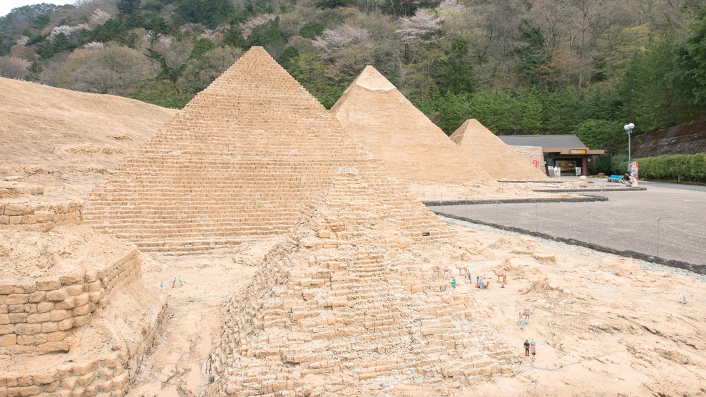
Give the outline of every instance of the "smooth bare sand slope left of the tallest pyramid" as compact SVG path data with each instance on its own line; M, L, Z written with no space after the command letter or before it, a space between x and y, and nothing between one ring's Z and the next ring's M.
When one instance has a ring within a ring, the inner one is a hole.
M0 78L0 177L88 191L178 110Z

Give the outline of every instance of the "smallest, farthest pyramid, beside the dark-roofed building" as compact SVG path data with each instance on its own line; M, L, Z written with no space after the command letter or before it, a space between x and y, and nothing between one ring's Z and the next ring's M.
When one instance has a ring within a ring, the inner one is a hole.
M451 140L497 180L548 180L543 172L475 118L466 120L451 134Z

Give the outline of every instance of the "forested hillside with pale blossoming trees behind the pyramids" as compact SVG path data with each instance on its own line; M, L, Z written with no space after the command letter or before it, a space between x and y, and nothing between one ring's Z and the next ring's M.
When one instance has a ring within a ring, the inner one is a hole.
M82 0L0 18L0 76L181 107L264 46L330 107L372 64L451 133L635 131L706 113L700 0Z

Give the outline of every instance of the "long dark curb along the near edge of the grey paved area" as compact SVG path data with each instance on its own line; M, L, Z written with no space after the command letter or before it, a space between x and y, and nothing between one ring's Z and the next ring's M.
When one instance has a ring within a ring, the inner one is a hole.
M551 234L546 234L546 233L541 233L541 232L533 232L532 230L525 230L525 229L521 229L519 227L498 225L498 224L492 223L492 222L484 222L482 220L474 220L474 219L470 219L470 218L466 218L466 217L459 217L456 215L445 214L444 212L437 212L434 210L431 210L431 212L434 212L434 214L441 215L443 217L449 217L449 218L455 219L455 220L463 220L466 222L477 223L479 225L491 226L491 227L495 227L500 230L507 230L508 232L529 234L534 237L541 237L543 239L549 239L549 240L553 240L553 241L563 242L566 244L578 245L580 247L595 249L596 251L606 252L608 254L620 255L621 257L630 257L630 258L635 258L635 259L641 259L641 260L647 261L647 262L654 262L654 263L658 263L658 264L664 264L664 265L670 266L670 267L677 267L679 269L690 270L691 272L695 272L698 274L706 274L706 264L692 264L689 262L682 262L682 261L677 261L674 259L664 259L664 258L660 258L660 257L655 257L653 255L643 254L642 252L635 252L635 251L631 251L631 250L622 250L622 249L614 249L614 248L610 248L610 247L604 247L603 245L590 244L588 242L577 240L577 239L568 239L565 237L557 237L557 236L552 236Z

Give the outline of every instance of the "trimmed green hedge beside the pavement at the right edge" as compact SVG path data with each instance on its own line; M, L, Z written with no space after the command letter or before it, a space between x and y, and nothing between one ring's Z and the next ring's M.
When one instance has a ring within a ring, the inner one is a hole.
M640 178L706 182L706 153L638 158Z

